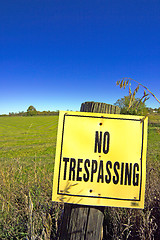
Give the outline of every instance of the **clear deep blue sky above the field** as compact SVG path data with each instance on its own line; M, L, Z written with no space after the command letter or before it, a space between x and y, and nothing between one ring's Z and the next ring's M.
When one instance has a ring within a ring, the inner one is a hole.
M0 114L113 104L123 77L160 98L159 0L0 0Z

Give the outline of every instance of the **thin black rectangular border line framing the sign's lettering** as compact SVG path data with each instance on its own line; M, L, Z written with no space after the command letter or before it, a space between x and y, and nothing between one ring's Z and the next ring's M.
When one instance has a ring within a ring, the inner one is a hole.
M63 136L64 136L64 127L65 127L65 118L66 117L89 117L89 118L100 118L100 119L117 119L117 120L127 120L127 121L139 121L142 122L142 145L141 145L141 177L140 177L140 189L139 189L139 199L126 199L126 198L113 198L113 197L102 197L102 196L86 196L86 195L75 195L75 194L66 194L59 192L59 184L60 184L60 172L61 172L61 162L62 162L62 151L63 151ZM141 201L141 191L142 191L142 156L143 156L143 142L144 142L144 121L141 119L132 119L132 118L114 118L114 117L98 117L98 116L84 116L84 115L72 115L72 114L64 114L63 118L63 128L62 128L62 141L61 141L61 152L60 152L60 164L59 164L59 173L58 173L58 186L57 186L57 195L65 195L65 196L74 196L74 197L85 197L85 198L103 198L103 199L113 199L113 200L124 200L124 201Z

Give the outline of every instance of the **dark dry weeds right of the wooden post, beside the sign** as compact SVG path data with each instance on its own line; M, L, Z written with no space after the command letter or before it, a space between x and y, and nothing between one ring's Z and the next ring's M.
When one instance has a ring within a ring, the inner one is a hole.
M160 239L160 163L147 169L144 210L106 208L104 239Z

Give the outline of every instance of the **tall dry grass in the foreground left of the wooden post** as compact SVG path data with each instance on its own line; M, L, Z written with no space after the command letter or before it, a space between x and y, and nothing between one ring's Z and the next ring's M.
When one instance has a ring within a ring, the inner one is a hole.
M45 161L1 161L0 239L56 238L62 207L51 201L53 171Z

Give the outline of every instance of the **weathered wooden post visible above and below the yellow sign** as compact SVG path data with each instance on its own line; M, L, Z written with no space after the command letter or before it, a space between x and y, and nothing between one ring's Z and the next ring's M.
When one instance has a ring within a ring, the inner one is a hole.
M120 108L98 102L81 104L81 112L119 114ZM89 203L88 203L89 205ZM60 240L99 240L102 239L103 207L84 205L64 205Z

